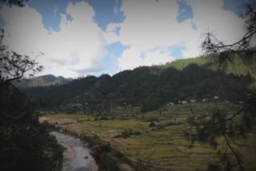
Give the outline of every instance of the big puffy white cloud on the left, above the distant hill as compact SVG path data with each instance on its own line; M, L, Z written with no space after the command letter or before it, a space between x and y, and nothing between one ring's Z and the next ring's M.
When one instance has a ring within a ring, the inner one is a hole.
M25 6L3 6L0 14L6 21L6 43L20 54L45 55L38 62L45 66L42 74L78 77L102 70L106 43L102 30L94 22L94 10L86 2L70 3L66 8L73 20L62 14L60 32L50 32L42 25L42 15Z

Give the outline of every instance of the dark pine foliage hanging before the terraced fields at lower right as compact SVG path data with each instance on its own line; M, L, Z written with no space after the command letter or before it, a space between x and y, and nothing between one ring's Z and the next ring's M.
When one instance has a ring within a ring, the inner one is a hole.
M253 99L247 101L237 113L227 113L222 109L214 109L210 117L188 118L190 125L185 131L186 138L192 147L194 141L208 143L214 148L218 147L217 137L224 137L222 151L218 153L219 160L209 164L209 170L244 170L242 155L234 149L230 141L238 138L246 138L253 129L255 123L255 103ZM233 157L230 155L233 154ZM226 168L226 169L225 169Z

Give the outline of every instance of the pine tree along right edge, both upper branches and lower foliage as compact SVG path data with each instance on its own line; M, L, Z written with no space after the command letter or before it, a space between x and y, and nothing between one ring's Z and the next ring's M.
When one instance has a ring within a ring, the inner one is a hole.
M248 4L244 6L242 18L245 19L246 34L240 40L232 44L226 45L212 33L206 33L206 38L202 42L202 50L208 54L208 58L212 59L215 64L225 70L227 66L233 64L239 59L245 65L248 65L255 58L256 47L253 46L253 39L256 39L256 6ZM242 105L236 113L229 114L222 109L214 109L210 118L189 119L190 128L186 129L185 135L191 144L194 141L202 141L210 143L215 148L218 146L217 137L224 137L222 153L218 153L219 160L208 165L208 170L244 170L242 155L230 143L230 138L247 137L247 133L253 128L256 97L255 89L250 90L250 97L246 103ZM230 157L228 150L233 154Z

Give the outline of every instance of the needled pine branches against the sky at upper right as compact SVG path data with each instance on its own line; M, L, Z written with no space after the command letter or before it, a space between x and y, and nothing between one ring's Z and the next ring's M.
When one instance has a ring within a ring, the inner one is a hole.
M215 54L210 57L218 66L225 69L228 64L234 62L234 58L242 59L248 64L256 54L256 3L247 4L244 7L242 18L245 20L246 34L237 42L225 44L218 40L212 33L206 33L205 39L201 44L202 50L206 54ZM209 57L209 56L208 56Z

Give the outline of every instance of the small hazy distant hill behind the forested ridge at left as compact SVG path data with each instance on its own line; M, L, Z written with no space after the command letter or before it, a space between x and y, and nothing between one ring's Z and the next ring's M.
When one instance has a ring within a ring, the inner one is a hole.
M34 78L22 79L20 82L14 82L14 85L22 88L49 86L49 85L63 85L70 82L70 78L63 78L61 76L55 77L54 75L42 75Z

